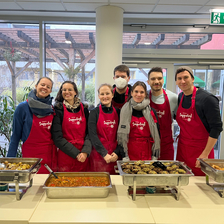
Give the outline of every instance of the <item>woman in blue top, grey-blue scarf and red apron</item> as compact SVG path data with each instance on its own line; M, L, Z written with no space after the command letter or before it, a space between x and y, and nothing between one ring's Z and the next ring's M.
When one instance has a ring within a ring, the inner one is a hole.
M16 156L19 141L22 140L22 157L42 158L42 164L47 163L54 168L55 148L50 132L54 116L51 105L53 97L50 96L52 86L50 78L40 78L27 101L16 107L7 157ZM49 171L41 166L38 173Z

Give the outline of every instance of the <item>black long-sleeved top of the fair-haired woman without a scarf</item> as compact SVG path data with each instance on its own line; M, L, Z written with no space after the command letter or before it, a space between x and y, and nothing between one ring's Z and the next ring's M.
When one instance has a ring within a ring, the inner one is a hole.
M118 117L120 116L120 110L115 108L118 114ZM104 113L112 114L113 107L106 107L102 105L102 110ZM101 143L98 135L97 135L97 122L99 119L99 106L95 107L93 110L90 111L89 115L89 138L91 140L92 145L97 150L97 152L102 156L105 157L108 153L107 149L103 146ZM118 156L123 156L123 147L120 145L117 145L116 149L114 150L114 153L116 153Z

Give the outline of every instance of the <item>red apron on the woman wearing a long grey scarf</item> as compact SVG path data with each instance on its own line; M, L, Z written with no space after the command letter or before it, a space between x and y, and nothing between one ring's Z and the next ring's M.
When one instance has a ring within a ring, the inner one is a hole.
M153 138L145 117L131 118L128 141L128 156L130 160L151 160Z

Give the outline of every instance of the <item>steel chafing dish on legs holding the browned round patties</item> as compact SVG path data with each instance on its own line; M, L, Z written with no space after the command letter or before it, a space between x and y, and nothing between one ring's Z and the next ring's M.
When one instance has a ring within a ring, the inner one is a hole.
M134 163L135 161L128 161L128 163ZM153 163L154 160L144 161L145 164ZM174 162L172 160L160 160L162 163ZM183 163L175 161L175 164L179 165L181 169L186 171L185 174L127 174L123 172L121 165L125 163L124 161L117 161L117 167L120 175L123 179L123 184L125 186L133 187L133 197L136 199L136 189L138 186L159 186L159 187L173 187L171 192L175 195L176 199L179 200L181 186L186 186L189 184L189 177L194 174L191 170L186 167ZM161 191L162 192L162 191ZM164 190L163 190L164 193Z

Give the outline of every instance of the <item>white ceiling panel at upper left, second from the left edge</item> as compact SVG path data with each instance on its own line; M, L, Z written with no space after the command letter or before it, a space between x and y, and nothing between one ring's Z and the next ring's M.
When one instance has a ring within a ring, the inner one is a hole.
M65 10L61 3L53 3L53 2L19 2L22 8L25 10Z

